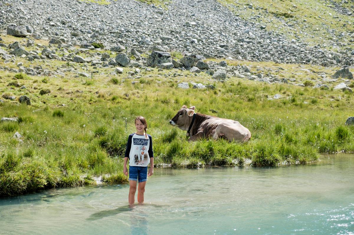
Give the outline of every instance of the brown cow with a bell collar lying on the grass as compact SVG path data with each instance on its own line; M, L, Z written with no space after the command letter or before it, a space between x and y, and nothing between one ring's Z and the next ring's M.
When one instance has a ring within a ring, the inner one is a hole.
M194 109L194 106L188 109L184 105L170 121L172 126L177 126L179 129L187 131L187 136L190 136L188 141L208 137L213 139L222 137L230 142L250 140L251 133L249 129L242 126L240 122L195 113Z

